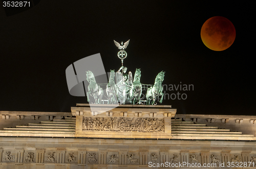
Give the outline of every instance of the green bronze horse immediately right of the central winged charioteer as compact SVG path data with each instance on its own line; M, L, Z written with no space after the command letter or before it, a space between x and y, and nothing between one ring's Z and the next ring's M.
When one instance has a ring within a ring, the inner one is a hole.
M130 90L130 98L131 98L132 104L135 104L136 102L140 104L140 97L142 92L140 76L141 76L140 69L136 69L134 74L132 89Z

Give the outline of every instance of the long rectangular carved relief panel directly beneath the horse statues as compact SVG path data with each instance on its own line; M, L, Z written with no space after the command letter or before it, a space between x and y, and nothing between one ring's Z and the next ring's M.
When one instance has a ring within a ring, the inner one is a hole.
M164 121L157 118L85 118L83 130L164 132Z

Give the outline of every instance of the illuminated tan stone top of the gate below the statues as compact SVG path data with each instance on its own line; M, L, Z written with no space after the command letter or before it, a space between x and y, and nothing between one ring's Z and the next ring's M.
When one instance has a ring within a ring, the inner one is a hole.
M255 168L256 116L176 115L167 105L93 106L0 111L0 169L228 168L232 162Z

